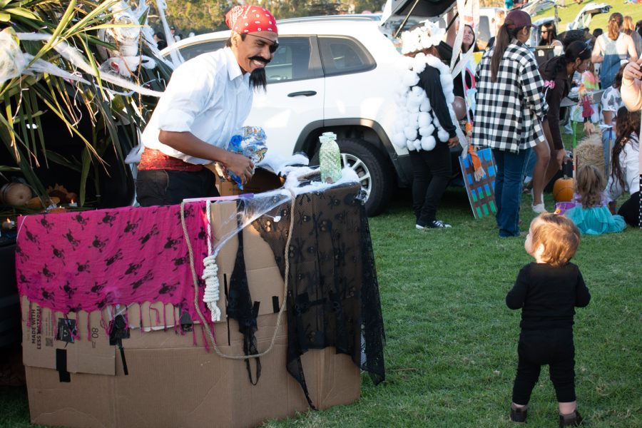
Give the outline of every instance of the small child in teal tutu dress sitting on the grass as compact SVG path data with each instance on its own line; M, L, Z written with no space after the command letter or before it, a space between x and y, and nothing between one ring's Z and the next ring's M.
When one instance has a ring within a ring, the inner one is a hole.
M566 210L566 217L573 220L580 233L601 235L621 232L626 227L621 215L613 215L608 209L604 194L606 179L601 170L593 165L584 165L575 181L574 208Z

